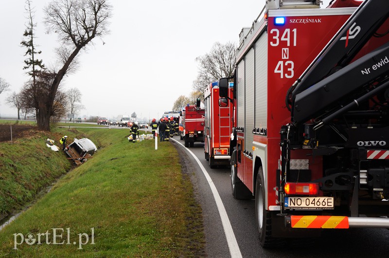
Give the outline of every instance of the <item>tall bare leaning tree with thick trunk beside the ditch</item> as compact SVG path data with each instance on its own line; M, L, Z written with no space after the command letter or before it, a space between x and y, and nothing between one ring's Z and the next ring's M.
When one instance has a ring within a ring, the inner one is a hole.
M107 0L52 0L44 9L47 32L58 35L62 47L58 49L60 68L41 72L41 88L33 89L36 94L46 91L47 95L35 95L38 128L50 131L50 117L62 79L74 65L77 54L95 37L108 33L111 6ZM47 85L45 85L47 84ZM61 98L61 97L59 97ZM54 112L55 113L55 112Z

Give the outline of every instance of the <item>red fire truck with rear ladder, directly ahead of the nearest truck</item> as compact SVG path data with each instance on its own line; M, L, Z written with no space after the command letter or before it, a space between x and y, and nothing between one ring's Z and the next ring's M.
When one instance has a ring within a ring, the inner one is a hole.
M228 89L232 98L233 83ZM219 105L218 82L211 83L204 90L205 128L204 153L212 168L215 165L230 164L230 133L232 129L232 104Z

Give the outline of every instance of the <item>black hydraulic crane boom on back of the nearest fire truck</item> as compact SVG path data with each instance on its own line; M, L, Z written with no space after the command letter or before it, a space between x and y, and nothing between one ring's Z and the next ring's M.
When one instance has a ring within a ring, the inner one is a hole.
M389 43L350 64L388 17L387 0L359 6L289 89L295 124L318 117L323 124L388 88Z

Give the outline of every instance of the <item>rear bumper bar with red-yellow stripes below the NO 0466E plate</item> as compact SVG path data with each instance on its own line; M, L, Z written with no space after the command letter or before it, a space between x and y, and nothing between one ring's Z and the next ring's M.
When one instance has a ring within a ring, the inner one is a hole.
M286 227L292 228L389 228L389 218L346 216L285 216Z

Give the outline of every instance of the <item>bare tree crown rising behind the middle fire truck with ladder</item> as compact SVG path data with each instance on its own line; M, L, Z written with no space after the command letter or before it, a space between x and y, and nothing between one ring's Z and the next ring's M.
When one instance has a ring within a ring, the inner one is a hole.
M228 42L225 45L216 42L211 52L196 58L198 74L193 89L203 92L214 81L233 74L236 62L236 46Z

